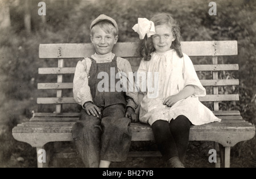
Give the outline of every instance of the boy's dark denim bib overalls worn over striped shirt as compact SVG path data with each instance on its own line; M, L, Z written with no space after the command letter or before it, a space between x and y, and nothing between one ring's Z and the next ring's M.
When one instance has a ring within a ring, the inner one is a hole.
M125 117L125 93L117 92L115 85L110 86L111 80L114 84L119 80L115 79L118 73L116 59L115 56L112 62L97 63L91 58L88 84L93 104L101 109L101 114L94 117L82 109L80 121L73 126L73 139L85 167L99 167L100 160L124 161L129 152L131 133L128 126L131 120ZM113 69L110 73L110 68L114 68L114 74ZM98 74L101 72L109 76L109 86L108 83L102 85L109 92L98 91L98 83L102 81L98 79Z

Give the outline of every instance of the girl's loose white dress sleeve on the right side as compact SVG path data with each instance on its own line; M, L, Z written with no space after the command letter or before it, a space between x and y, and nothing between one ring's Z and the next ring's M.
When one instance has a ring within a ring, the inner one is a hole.
M184 68L183 68L183 75L184 75L184 87L188 85L192 85L195 87L194 96L205 96L206 91L205 88L202 86L197 74L195 67L191 59L186 55L184 55Z

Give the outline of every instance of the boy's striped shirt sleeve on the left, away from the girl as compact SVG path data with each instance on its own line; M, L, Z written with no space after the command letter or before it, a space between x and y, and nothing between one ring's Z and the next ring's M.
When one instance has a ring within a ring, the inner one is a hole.
M73 97L76 103L84 108L86 102L93 102L88 85L88 74L86 59L77 62L75 76L73 79Z

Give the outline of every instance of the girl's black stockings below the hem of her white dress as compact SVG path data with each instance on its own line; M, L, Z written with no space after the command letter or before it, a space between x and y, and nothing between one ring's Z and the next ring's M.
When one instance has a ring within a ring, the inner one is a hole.
M152 124L156 144L165 161L179 157L181 162L184 162L190 126L191 122L185 116L178 116L170 123L158 120Z

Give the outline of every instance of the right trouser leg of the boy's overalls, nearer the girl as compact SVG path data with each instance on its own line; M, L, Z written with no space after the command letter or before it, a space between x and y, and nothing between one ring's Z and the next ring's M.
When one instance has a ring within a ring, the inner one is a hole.
M131 144L130 118L123 105L111 105L102 111L101 160L125 161Z

